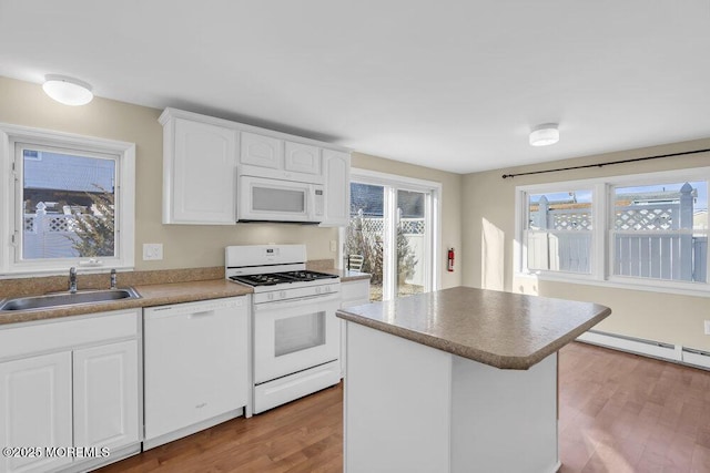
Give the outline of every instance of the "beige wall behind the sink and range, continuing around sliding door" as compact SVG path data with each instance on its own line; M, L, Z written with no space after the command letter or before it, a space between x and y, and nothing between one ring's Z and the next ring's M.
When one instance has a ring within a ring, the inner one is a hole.
M0 76L0 122L55 130L88 136L135 143L135 268L140 270L221 266L224 247L264 243L305 243L310 259L336 259L329 241L336 228L291 224L237 224L236 226L163 225L161 111L97 97L84 106L65 106L49 99L38 84ZM355 165L397 173L399 163L374 156L355 155ZM446 179L445 198L458 203L459 176L417 166L402 165L403 175L433 181ZM406 174L405 174L406 173ZM449 193L448 183L453 183ZM453 236L444 241L458 244L458 204L448 212L444 226ZM446 235L446 234L445 234ZM143 261L142 245L162 243L164 259ZM458 280L447 277L445 284Z

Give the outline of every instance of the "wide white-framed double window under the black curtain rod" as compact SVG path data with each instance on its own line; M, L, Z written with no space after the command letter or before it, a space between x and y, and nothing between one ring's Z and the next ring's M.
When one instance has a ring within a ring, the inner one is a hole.
M517 270L707 292L709 181L696 168L517 187Z

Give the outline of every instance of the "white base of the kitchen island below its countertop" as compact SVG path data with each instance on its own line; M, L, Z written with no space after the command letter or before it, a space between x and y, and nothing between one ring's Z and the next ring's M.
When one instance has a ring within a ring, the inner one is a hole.
M559 471L557 353L501 370L346 326L344 471Z

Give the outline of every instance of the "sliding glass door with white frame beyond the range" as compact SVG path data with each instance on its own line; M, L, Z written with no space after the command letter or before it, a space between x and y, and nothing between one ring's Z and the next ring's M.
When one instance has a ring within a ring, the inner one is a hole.
M430 291L438 240L436 183L353 171L346 267L372 275L371 300Z

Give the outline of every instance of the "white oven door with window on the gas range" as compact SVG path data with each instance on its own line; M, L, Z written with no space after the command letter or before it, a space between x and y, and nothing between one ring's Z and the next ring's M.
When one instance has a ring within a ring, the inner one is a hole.
M254 383L338 359L339 292L254 305Z

